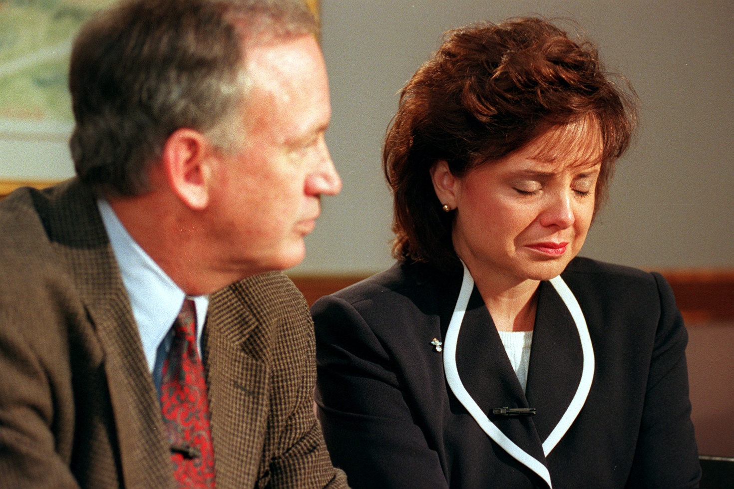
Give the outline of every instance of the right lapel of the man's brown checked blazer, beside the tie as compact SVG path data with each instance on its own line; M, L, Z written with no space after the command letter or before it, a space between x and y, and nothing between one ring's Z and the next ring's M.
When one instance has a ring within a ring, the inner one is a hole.
M202 339L217 485L254 487L269 413L270 321L258 277L211 296ZM265 469L265 468L263 468Z

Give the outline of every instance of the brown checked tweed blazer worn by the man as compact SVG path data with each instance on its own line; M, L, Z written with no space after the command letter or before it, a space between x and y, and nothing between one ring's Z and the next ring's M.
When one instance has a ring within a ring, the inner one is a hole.
M218 488L344 488L313 416L313 324L281 273L211 296ZM117 262L76 180L0 203L0 488L175 485Z

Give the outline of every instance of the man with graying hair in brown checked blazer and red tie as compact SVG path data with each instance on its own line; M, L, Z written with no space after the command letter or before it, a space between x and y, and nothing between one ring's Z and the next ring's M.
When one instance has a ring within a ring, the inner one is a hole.
M316 34L297 0L81 29L77 177L0 203L0 487L346 487L280 273L341 189Z

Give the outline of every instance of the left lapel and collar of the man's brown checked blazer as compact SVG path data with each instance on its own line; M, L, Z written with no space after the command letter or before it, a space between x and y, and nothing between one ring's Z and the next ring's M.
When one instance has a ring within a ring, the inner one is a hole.
M160 405L95 199L76 180L49 210L48 233L76 282L104 351L126 486L174 485Z

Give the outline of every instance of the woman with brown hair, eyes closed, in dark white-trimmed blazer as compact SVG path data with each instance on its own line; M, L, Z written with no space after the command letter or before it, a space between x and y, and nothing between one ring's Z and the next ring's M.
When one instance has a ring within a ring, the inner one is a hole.
M656 273L577 257L636 109L590 43L448 32L385 140L398 260L312 309L354 488L688 488L686 330Z

